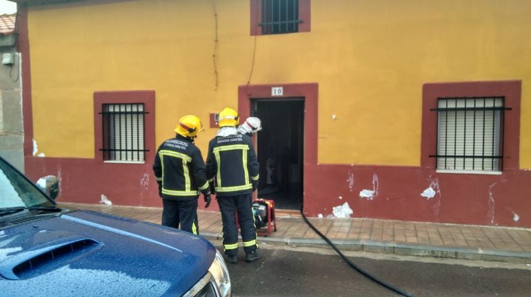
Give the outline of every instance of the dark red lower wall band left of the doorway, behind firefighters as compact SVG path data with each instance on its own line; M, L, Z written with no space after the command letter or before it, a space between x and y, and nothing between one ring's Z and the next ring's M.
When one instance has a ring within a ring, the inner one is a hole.
M59 177L57 202L101 203L105 195L112 205L162 207L152 161L145 164L103 163L96 159L26 157L26 175L32 181L45 175ZM199 209L204 209L202 196ZM212 197L215 199L215 197ZM211 203L208 210L219 210Z

